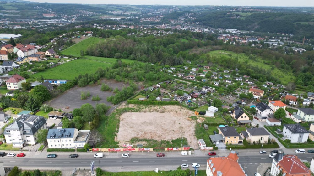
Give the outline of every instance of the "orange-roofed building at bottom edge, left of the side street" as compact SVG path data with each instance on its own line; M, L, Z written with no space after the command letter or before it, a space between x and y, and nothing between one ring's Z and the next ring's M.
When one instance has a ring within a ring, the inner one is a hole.
M236 152L231 151L227 157L211 157L207 160L207 176L247 176L240 166Z

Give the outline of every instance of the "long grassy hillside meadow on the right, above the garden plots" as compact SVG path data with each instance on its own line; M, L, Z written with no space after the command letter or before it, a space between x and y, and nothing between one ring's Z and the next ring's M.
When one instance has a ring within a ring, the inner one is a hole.
M219 52L226 52L226 53L230 53L232 55L222 54ZM271 75L280 79L281 83L284 85L287 85L289 82L295 80L295 76L292 74L292 71L282 70L282 69L278 69L276 67L274 69L272 69L272 65L265 64L264 60L260 57L257 57L256 60L250 60L249 57L245 54L238 54L238 53L234 53L232 51L222 51L222 50L210 51L208 54L211 56L218 56L218 57L219 56L225 56L225 57L229 57L229 58L238 57L240 62L249 64L252 66L257 66L257 67L263 68L263 69L271 72Z

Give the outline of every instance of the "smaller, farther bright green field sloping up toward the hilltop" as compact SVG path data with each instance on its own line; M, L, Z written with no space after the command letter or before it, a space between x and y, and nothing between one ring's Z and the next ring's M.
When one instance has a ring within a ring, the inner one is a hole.
M60 54L80 57L81 50L86 51L89 45L99 43L99 41L101 40L104 40L104 39L100 39L97 37L89 37L61 51Z

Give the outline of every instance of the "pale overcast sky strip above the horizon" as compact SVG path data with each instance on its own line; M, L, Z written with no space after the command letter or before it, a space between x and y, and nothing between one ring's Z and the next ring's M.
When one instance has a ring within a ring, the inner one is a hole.
M225 5L225 6L302 6L314 7L314 0L30 0L47 3L82 4L160 4L160 5Z

